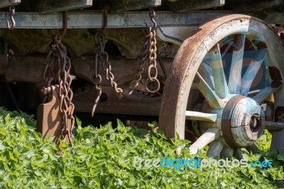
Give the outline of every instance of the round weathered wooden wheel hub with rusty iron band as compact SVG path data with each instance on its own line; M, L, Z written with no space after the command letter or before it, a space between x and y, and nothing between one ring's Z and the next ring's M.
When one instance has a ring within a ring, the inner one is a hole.
M260 105L249 97L236 95L226 103L221 121L224 141L233 148L251 146L264 131Z

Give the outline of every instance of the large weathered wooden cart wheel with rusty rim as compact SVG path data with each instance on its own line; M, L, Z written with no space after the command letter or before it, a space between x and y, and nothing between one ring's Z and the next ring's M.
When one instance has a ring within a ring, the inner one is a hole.
M207 155L214 157L240 156L240 148L252 148L266 127L274 130L271 148L283 151L283 124L276 122L284 117L283 63L280 38L258 18L229 15L205 23L175 56L160 129L184 139L185 120L192 120L202 135L190 153L209 144Z

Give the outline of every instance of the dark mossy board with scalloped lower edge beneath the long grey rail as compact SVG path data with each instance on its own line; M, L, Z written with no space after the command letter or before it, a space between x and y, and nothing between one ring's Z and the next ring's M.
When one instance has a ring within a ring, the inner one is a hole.
M1 37L8 41L9 46L16 55L24 56L28 54L46 53L50 48L52 38L47 30L26 29L24 32L25 35L23 35L22 30L12 30L1 33ZM51 33L60 32L61 30L51 31ZM94 35L94 33L92 34ZM89 33L87 29L67 30L62 42L67 46L71 57L79 58L82 55L94 54L94 36L92 36L92 34ZM121 55L124 55L126 59L136 59L143 53L143 39L145 35L146 33L140 28L120 28L119 30L108 28L105 33L105 38L107 38L109 42L107 46L117 45ZM18 36L21 36L21 38ZM113 41L113 43L111 41ZM160 41L158 41L157 48L159 52L162 52L166 47L163 48L163 45L161 46ZM163 56L165 57L166 55L164 54Z

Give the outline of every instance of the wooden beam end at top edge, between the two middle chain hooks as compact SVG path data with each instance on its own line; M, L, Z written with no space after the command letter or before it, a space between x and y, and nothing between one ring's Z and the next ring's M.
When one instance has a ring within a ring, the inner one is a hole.
M121 0L111 1L111 13L119 13L133 11L138 9L146 9L161 5L161 0Z

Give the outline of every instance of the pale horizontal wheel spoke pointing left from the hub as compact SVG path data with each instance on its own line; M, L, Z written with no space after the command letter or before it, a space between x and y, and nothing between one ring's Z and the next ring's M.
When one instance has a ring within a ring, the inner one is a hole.
M208 121L216 122L217 114L206 114L202 112L186 111L185 119L196 120L196 121Z

